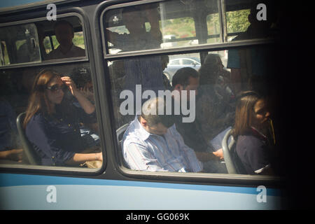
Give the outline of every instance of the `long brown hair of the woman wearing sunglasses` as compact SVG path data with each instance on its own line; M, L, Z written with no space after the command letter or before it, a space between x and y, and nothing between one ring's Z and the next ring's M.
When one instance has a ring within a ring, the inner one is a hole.
M56 77L60 77L60 74L50 69L44 69L37 74L29 97L23 127L26 127L29 120L31 120L38 111L48 115L52 114L52 107L49 103L45 87Z

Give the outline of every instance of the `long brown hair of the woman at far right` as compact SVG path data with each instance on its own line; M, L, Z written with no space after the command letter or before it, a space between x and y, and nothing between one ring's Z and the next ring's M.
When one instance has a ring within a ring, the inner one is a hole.
M246 134L251 130L253 123L253 109L259 99L262 99L257 92L246 91L241 92L237 96L237 106L235 112L235 127L233 136L237 137L241 134Z

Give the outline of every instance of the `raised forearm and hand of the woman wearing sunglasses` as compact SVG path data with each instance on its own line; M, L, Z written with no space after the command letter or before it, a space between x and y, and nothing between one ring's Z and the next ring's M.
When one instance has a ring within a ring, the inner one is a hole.
M76 85L69 76L62 77L62 81L64 81L64 83L69 86L71 94L73 94L73 97L78 99L78 102L85 113L91 114L95 111L95 106L80 91L78 91Z

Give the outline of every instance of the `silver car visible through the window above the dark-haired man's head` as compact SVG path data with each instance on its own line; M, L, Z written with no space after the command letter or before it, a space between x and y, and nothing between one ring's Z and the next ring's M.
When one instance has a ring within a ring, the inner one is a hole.
M200 66L200 59L198 59L197 57L174 58L169 60L169 64L167 64L167 67L166 69L164 69L163 73L165 73L165 76L169 78L169 82L172 83L173 76L177 70L184 67L190 67L198 71L200 69Z

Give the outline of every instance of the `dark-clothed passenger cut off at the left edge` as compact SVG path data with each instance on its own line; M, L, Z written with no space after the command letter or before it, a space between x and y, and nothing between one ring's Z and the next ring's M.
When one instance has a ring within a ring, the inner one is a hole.
M22 162L15 113L10 104L0 97L0 163Z

